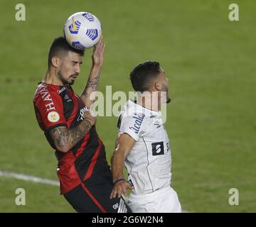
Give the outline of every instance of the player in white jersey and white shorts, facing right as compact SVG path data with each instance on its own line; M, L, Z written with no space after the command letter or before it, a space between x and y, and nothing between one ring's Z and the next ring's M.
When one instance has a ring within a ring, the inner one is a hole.
M171 149L159 111L161 104L171 101L169 80L159 62L152 61L137 65L130 79L139 96L137 102L127 101L119 116L110 198L127 196L127 189L132 189L128 205L134 213L181 212L171 188Z

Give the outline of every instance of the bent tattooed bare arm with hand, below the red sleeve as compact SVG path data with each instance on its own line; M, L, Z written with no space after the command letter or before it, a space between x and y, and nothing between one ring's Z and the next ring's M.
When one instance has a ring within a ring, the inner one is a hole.
M68 129L67 126L58 126L49 131L58 151L67 153L90 131L96 118L90 115L90 111L85 111L83 117L83 120L75 128Z

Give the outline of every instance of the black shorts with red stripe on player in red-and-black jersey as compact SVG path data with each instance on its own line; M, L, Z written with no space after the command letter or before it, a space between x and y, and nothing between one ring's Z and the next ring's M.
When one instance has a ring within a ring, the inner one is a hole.
M131 213L124 199L110 199L113 185L81 183L70 192L63 194L65 199L80 213Z

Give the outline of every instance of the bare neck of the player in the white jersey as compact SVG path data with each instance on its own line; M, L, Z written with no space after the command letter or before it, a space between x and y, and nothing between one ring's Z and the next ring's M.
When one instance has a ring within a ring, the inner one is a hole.
M151 111L159 111L160 109L158 95L151 94L151 92L144 92L142 95L139 95L137 104Z

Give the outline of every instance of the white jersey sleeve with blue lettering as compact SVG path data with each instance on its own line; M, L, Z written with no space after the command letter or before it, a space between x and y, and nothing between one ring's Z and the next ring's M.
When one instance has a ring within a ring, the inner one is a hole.
M146 133L146 118L144 114L132 114L132 116L119 116L119 135L127 133L135 141L138 141Z

